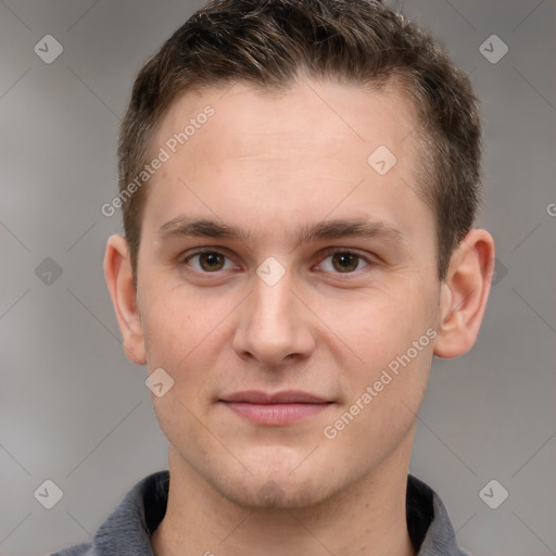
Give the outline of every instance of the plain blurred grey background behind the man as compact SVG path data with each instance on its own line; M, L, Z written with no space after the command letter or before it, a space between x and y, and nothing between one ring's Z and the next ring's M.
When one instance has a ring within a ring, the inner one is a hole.
M103 277L119 213L100 207L116 192L116 134L135 75L199 5L0 2L2 555L89 540L136 481L166 468L146 368L124 355ZM476 346L434 362L412 472L441 495L471 554L556 554L556 4L404 10L445 42L483 101L478 225L497 254ZM51 64L34 52L47 34L64 49ZM495 64L479 50L493 34L509 47ZM62 269L50 285L36 275L47 257ZM34 497L46 479L64 493L50 510ZM479 497L491 479L509 492L497 509Z

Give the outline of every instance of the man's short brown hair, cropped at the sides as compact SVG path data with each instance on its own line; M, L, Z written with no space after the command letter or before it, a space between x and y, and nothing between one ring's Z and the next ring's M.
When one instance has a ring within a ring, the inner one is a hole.
M375 89L395 79L413 100L422 146L416 189L435 215L443 280L479 204L478 100L433 37L377 0L212 0L197 11L135 81L119 136L121 193L178 96L232 83L283 90L300 76ZM147 188L123 202L136 286Z

